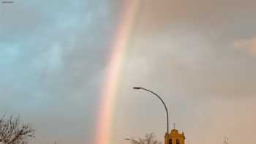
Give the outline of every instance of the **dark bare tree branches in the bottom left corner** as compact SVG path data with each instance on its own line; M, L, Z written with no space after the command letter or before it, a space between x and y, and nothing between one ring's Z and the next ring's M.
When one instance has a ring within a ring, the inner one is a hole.
M0 118L0 143L26 144L34 137L34 129L29 124L20 124L20 117Z

